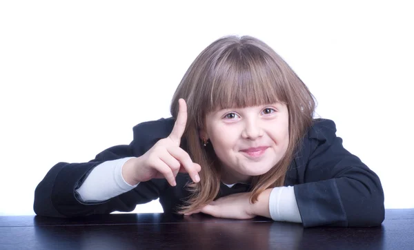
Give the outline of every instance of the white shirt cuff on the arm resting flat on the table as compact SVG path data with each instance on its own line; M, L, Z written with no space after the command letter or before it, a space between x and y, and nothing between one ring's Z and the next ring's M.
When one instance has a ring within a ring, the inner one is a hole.
M275 221L302 223L293 186L275 187L269 198L270 217Z

